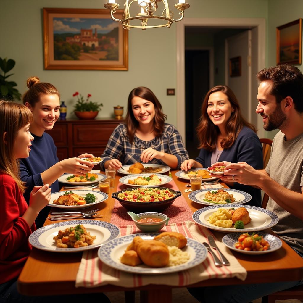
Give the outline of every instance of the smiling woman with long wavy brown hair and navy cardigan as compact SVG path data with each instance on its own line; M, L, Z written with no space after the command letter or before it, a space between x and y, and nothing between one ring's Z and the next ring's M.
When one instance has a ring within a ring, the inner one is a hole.
M232 163L244 161L255 169L263 168L262 146L256 128L243 118L238 100L228 86L215 86L206 94L197 132L200 154L196 160L184 161L182 170L207 168L223 160ZM252 198L247 204L261 207L259 189L237 182L226 184L249 193Z

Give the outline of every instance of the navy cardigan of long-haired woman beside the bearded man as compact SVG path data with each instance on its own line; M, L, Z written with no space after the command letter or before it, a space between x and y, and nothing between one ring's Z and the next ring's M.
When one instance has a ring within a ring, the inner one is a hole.
M196 161L201 163L203 167L210 167L211 151L203 148ZM243 127L234 144L230 148L225 148L220 155L219 161L229 161L231 163L246 162L255 169L263 168L262 145L258 136L248 127ZM261 191L249 185L243 185L235 182L231 188L245 191L251 195L251 201L245 203L261 207Z

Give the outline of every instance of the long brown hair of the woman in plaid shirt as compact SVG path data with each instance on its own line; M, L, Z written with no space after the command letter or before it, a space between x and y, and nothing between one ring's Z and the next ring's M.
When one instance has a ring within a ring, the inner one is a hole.
M162 106L155 96L155 94L147 87L140 86L134 88L129 96L127 101L127 113L125 117L127 134L129 137L129 142L134 141L135 132L139 126L139 122L136 120L134 113L132 111L132 98L135 96L150 101L155 106L155 117L154 117L154 133L156 137L160 136L164 131L164 122L166 120L166 115L162 112Z

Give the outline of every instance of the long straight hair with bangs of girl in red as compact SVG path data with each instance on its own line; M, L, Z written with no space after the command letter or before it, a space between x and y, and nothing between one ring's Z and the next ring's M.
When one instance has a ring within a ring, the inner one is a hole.
M15 159L14 146L18 131L27 124L32 123L33 114L22 104L0 101L0 121L0 171L10 175L23 193L25 183L20 180L19 160ZM4 142L3 137L5 132L6 142Z

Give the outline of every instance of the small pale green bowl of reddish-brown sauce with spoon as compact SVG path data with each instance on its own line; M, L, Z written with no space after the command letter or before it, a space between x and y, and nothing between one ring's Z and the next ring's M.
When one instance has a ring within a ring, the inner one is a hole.
M140 219L134 221L135 225L144 232L156 232L159 231L164 225L168 225L169 218L167 215L159 212L143 212L137 214Z

